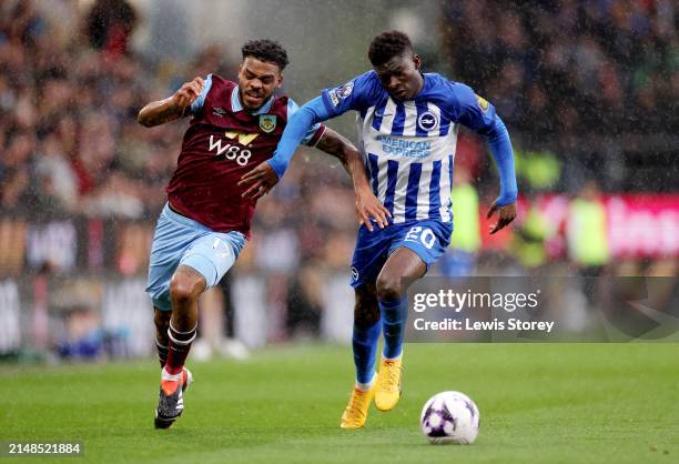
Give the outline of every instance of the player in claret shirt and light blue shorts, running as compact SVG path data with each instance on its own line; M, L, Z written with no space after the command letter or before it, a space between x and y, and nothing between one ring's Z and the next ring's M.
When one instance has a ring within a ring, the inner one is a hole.
M250 235L256 200L243 196L241 176L273 155L288 118L297 111L287 97L275 97L287 64L274 41L242 48L237 83L210 74L186 82L169 99L139 113L145 127L192 115L176 170L168 185L151 250L146 292L154 306L161 389L155 426L166 428L182 414L191 384L184 367L197 326L197 300L233 265ZM352 175L359 221L386 225L386 210L372 193L358 151L322 124L302 141L337 157ZM268 186L261 186L260 195Z

